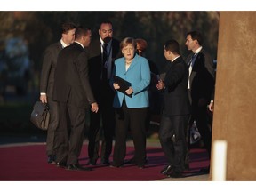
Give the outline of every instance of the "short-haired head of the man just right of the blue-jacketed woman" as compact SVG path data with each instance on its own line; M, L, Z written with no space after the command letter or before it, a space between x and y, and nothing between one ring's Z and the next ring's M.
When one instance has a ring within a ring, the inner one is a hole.
M166 60L173 60L180 55L180 45L176 40L169 40L164 44L164 57Z

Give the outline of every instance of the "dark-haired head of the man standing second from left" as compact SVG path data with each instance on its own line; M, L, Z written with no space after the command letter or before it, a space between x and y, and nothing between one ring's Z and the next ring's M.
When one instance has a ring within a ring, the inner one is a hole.
M90 28L83 28L81 26L76 28L75 40L88 47L92 40L92 31Z

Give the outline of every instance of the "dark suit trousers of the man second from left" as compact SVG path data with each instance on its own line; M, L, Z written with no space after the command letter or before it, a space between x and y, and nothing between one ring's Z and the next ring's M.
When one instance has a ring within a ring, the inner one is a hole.
M56 162L78 164L84 140L85 115L84 108L58 102L60 124L56 129Z

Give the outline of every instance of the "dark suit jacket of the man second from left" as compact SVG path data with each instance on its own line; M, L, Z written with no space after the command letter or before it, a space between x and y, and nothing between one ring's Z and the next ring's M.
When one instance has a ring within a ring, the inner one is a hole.
M78 108L95 102L88 76L88 56L80 44L70 44L58 57L55 70L53 100Z

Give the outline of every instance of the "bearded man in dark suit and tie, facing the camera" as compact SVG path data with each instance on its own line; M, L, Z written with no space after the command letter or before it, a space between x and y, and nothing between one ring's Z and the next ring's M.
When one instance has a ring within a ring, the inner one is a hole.
M97 114L91 112L89 128L88 164L95 165L99 158L100 120L102 123L103 140L101 143L101 164L109 164L112 151L112 141L115 130L115 112L113 105L115 92L109 86L114 61L119 55L119 41L113 38L113 28L110 21L100 23L99 37L93 39L89 47L90 84L100 110ZM106 45L106 46L105 46Z

